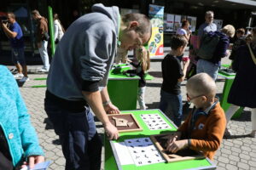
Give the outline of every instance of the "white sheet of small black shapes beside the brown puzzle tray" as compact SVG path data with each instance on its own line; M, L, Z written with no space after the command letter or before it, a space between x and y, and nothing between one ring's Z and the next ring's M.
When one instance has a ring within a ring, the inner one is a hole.
M159 114L142 114L141 117L150 130L172 128Z

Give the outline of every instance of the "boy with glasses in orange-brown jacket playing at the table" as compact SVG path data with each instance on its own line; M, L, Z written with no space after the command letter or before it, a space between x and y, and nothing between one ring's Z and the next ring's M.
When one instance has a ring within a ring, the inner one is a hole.
M170 135L166 150L189 148L201 151L213 159L224 136L226 118L216 95L216 84L212 77L200 73L191 77L186 85L187 98L195 107L177 132Z

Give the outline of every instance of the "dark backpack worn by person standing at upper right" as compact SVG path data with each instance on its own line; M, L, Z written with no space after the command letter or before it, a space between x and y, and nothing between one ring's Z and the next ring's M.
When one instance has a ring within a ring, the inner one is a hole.
M197 55L201 59L212 59L218 42L218 35L212 31L208 32L203 37L201 37L201 46L198 49Z

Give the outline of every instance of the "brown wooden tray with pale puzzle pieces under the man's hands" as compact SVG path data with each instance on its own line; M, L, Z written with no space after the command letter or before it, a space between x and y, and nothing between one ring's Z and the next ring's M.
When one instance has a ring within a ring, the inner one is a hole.
M117 127L119 133L143 131L131 113L108 115L108 119Z

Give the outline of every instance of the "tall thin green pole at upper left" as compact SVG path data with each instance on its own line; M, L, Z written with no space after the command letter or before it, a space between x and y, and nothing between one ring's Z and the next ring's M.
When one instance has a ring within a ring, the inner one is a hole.
M51 44L51 54L52 54L52 57L54 57L54 55L55 55L55 33L54 33L52 8L51 8L50 4L48 5L48 16L49 16L49 37L50 37L50 44Z

